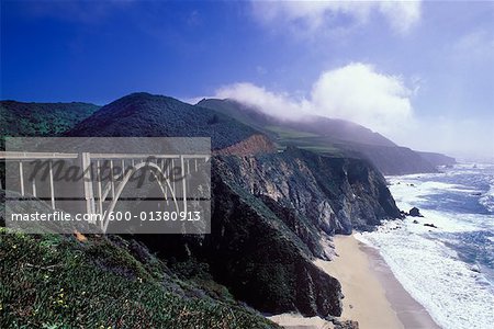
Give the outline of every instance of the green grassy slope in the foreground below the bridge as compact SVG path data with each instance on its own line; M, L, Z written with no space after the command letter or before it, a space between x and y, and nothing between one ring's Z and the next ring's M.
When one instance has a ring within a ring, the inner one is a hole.
M0 229L1 328L278 328L121 238Z

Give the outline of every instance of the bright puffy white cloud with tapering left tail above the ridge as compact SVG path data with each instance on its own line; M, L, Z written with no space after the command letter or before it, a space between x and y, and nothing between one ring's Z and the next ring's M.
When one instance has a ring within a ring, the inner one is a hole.
M310 98L268 91L248 82L221 88L217 98L235 99L280 117L306 114L349 120L383 134L403 129L413 121L412 91L402 78L377 72L373 66L355 63L323 72Z

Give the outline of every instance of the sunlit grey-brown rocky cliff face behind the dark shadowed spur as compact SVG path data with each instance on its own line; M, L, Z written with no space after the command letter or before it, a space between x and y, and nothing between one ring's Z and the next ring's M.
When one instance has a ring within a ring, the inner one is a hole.
M289 148L276 155L221 157L216 170L327 235L372 229L381 219L400 216L382 174L360 159Z

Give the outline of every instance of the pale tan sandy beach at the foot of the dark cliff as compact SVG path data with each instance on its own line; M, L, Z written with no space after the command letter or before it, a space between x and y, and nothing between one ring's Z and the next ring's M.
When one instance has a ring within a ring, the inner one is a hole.
M345 295L341 320L358 321L360 329L439 328L402 287L375 249L353 236L336 236L334 241L338 257L315 263L341 283ZM293 314L278 315L271 320L285 328L333 328L318 317L303 318Z

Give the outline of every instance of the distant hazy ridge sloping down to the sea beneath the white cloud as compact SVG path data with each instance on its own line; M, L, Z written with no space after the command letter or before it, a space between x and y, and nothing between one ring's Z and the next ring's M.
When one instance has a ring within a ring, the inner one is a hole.
M280 118L235 100L203 99L198 105L215 109L250 125L282 146L297 147L341 157L370 160L384 174L437 172L437 166L454 163L454 159L431 152L414 151L397 146L371 129L344 120L306 116Z

